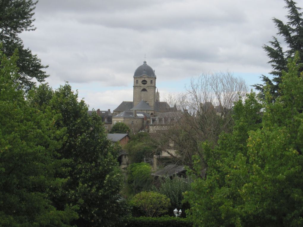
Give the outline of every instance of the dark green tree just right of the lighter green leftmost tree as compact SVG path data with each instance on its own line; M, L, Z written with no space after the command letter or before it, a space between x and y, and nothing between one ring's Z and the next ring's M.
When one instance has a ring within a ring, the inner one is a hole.
M73 222L77 226L115 226L123 213L118 202L122 179L118 150L107 140L102 119L88 115L87 105L78 101L69 84L55 91L44 84L30 94L31 104L52 110L55 127L66 130L57 150L65 165L56 174L68 180L60 189L50 189L55 207L78 206L79 219Z

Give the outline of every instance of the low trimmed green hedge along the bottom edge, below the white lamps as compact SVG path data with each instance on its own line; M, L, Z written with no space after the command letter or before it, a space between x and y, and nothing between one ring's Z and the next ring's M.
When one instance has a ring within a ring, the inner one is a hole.
M125 226L131 227L192 227L193 223L186 218L163 216L151 217L130 217L125 222Z

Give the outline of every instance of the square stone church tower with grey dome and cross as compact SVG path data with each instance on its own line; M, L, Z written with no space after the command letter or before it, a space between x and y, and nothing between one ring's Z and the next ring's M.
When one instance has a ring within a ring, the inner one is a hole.
M134 73L133 107L141 100L145 101L155 110L156 74L155 71L146 64L146 61L144 61Z

